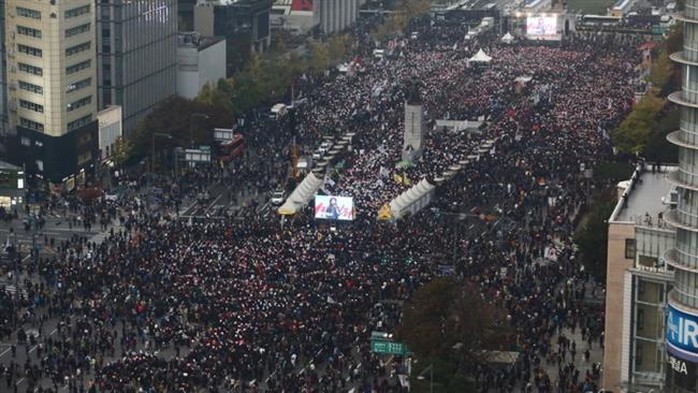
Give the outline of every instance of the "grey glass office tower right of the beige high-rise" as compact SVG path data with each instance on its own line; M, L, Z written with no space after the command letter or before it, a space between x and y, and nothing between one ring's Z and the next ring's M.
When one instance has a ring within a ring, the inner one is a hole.
M97 2L99 107L120 105L124 133L177 93L177 0Z

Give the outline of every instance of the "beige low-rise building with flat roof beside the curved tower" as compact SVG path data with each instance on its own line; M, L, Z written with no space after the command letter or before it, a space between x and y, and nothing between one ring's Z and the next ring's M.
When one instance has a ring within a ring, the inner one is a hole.
M660 391L664 383L664 310L673 269L665 263L675 229L664 220L674 194L667 173L638 167L619 184L608 220L602 387Z

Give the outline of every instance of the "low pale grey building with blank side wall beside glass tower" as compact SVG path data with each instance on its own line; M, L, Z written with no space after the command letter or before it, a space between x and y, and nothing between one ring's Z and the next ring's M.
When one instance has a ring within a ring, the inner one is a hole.
M180 33L177 48L177 94L187 99L199 95L207 83L225 78L225 38Z

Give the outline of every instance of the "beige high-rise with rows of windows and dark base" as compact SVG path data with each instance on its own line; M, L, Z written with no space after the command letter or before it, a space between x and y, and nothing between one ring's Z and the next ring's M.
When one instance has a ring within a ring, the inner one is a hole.
M35 178L66 180L96 153L94 1L4 5L8 120L19 146L14 161Z

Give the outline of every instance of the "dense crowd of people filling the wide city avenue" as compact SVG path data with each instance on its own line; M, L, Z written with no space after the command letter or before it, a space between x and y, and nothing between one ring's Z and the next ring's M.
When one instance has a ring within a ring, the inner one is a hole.
M393 56L366 58L365 72L304 77L299 140L357 133L345 170L325 185L355 198L352 225L330 230L307 212L282 229L262 220L192 223L129 204L119 210L123 225L103 242L61 244L31 266L35 281L27 280L21 299L7 299L22 317L13 340L27 354L24 364L3 359L8 389L21 376L32 388L71 393L401 391L371 353L370 333L394 330L400 307L391 305L440 274L435 255L452 247L453 229L434 211L473 209L502 220L458 238L455 274L507 310L521 352L513 367L480 367L479 388L592 389L598 368L577 370L566 359L573 345L580 356L603 345L601 311L577 301L588 280L571 238L587 198L580 165L610 155L606 130L630 108L639 56L614 39L505 45L492 37L466 42L450 23L416 29L419 38L398 44ZM361 29L356 35L371 45ZM479 49L492 57L485 68L467 61ZM522 76L531 79L516 82ZM485 123L469 133L428 123L423 157L396 169L412 80L420 81L430 119ZM292 132L267 123L249 124L256 136L248 139L255 154L281 160ZM496 141L493 151L444 182L434 210L394 224L376 220L380 206L409 187L393 175L432 181L484 140ZM180 181L278 175L246 168L210 168ZM505 218L506 227L498 224ZM43 328L46 320L58 321L55 332ZM583 329L588 342L559 336L567 327ZM558 375L545 371L550 362Z

